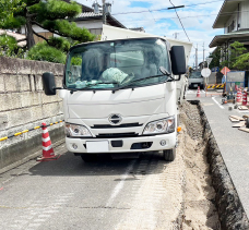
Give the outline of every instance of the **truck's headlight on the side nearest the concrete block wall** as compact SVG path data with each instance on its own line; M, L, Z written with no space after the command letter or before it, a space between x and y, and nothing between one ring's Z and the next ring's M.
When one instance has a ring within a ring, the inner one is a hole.
M68 137L73 136L73 137L92 137L92 134L85 128L84 125L78 125L78 124L70 124L66 123L64 124L64 133Z

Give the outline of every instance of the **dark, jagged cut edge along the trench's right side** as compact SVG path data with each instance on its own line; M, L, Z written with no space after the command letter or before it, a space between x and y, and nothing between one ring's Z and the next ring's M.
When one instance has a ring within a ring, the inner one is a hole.
M199 100L189 101L197 105L204 126L204 138L208 141L208 161L216 192L215 204L224 230L249 229L249 220L239 199L236 187L223 160L222 154L212 133L209 120Z

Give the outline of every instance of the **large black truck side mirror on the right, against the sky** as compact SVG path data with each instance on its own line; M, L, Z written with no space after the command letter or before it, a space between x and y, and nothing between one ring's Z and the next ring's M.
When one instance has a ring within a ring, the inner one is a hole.
M170 50L171 70L174 75L186 73L186 57L183 46L173 46Z

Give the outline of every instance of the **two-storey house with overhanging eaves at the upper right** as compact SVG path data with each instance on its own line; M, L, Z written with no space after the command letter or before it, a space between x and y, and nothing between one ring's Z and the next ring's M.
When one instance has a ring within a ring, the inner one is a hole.
M234 41L239 41L249 51L249 1L225 0L213 28L224 28L223 35L216 35L210 44L210 48L221 47L224 59L228 59L228 47Z

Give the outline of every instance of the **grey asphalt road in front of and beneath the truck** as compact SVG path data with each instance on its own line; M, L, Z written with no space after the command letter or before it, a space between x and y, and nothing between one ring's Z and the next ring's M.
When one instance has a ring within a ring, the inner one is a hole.
M0 175L0 229L165 229L180 209L177 165L159 153L85 164L56 148L55 161L31 160ZM174 161L177 164L177 161Z

